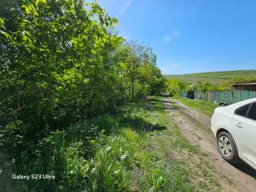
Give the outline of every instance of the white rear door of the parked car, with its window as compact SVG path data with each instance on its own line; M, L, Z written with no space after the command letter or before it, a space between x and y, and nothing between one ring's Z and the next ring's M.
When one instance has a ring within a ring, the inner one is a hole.
M256 102L239 107L234 117L234 131L240 148L238 153L256 166Z

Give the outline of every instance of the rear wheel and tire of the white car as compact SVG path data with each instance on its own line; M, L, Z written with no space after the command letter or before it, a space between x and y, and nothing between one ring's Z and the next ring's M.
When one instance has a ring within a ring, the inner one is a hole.
M234 138L229 133L221 132L218 134L217 146L218 152L226 162L231 164L240 164L242 162L238 156L238 147L234 142Z

